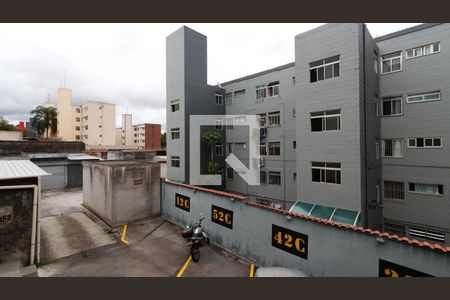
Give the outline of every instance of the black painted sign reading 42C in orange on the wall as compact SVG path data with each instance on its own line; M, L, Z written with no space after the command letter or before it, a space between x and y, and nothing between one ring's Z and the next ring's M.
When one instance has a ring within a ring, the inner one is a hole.
M272 224L272 246L308 259L308 236L306 234Z

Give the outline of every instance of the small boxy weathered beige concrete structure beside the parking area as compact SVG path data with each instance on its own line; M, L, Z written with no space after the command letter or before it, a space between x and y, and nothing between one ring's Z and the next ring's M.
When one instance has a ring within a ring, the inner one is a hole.
M83 162L83 205L114 227L157 216L159 182L157 162Z

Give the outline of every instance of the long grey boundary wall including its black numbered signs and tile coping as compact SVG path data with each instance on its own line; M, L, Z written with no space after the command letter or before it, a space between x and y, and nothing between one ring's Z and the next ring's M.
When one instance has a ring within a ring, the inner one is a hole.
M214 243L260 266L320 276L450 276L450 247L300 216L246 197L163 181L161 216L185 226L205 217Z

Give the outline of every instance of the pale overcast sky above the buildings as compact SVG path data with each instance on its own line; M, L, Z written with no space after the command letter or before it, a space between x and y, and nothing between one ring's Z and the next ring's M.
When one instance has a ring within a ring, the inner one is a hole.
M418 23L368 23L373 37ZM166 36L186 25L208 37L208 83L215 85L293 62L294 38L320 23L284 24L0 24L0 116L10 123L58 87L74 105L116 104L133 124L165 129Z

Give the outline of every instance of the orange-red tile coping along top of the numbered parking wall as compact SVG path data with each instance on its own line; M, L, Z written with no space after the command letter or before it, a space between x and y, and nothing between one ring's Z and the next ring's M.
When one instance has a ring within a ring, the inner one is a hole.
M194 186L194 185L189 185L189 184L184 184L184 183L178 183L178 182L174 182L174 181L169 181L167 179L165 179L163 181L165 183L178 185L178 186L186 187L186 188L193 189L193 190L198 190L198 191L202 191L202 192L205 192L205 193L216 194L216 195L219 195L219 196L225 196L225 197L235 198L235 199L239 199L239 200L246 200L247 199L247 197L244 196L244 195L238 195L238 194L233 194L233 193L229 193L229 192L223 192L223 191L208 189L208 188L204 188L204 187L199 187L199 186ZM310 220L310 221L317 222L317 223L322 223L322 224L325 224L325 225L330 225L330 226L335 226L335 227L339 227L339 228L343 228L343 229L347 229L347 230L353 230L353 231L358 231L358 232L370 234L370 235L373 235L373 236L376 236L376 237L390 239L390 240L394 240L394 241L398 241L398 242L402 242L402 243L408 243L408 244L414 245L414 246L425 247L425 248L429 248L431 250L439 250L439 251L442 251L442 252L450 253L450 247L445 247L445 246L438 245L438 244L432 244L432 243L429 243L429 242L419 241L419 240L416 240L416 239L410 239L408 237L398 236L396 234L390 234L388 232L382 232L382 231L379 231L379 230L373 230L373 229L364 228L364 227L361 227L361 226L347 225L347 224L343 224L343 223L339 223L339 222L333 222L333 221L328 221L328 220L320 219L320 218L316 218L316 217L296 214L296 213L289 212L287 210L283 210L283 209L280 209L280 208L274 208L274 207L271 207L271 206L266 206L266 205L262 205L262 204L255 203L255 202L248 202L248 201L246 201L244 203L246 205L259 207L259 208L262 208L262 209L270 210L270 211L273 211L273 212L276 212L276 213L280 213L280 214L283 214L283 215L286 215L286 216L291 216L291 217L294 217L294 218Z

